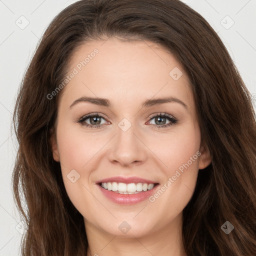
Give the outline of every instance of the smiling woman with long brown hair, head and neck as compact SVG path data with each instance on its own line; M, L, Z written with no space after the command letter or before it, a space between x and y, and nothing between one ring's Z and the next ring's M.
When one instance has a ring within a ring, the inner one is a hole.
M13 121L22 255L256 254L251 95L186 4L65 8L26 70Z

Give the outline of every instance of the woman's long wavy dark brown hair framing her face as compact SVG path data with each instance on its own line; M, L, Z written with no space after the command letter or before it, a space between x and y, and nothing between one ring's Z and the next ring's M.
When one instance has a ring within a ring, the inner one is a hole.
M212 162L199 170L194 194L183 210L186 253L255 256L256 125L251 94L216 32L179 0L80 0L62 10L44 32L13 115L19 146L13 196L26 224L22 255L86 255L83 217L67 196L49 141L60 93L51 99L47 95L63 80L77 46L108 37L159 43L190 79L201 138ZM225 221L234 226L229 234L221 230Z

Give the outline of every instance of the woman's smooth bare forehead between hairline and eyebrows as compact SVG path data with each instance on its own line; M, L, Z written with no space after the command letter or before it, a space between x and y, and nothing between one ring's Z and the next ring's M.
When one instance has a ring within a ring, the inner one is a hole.
M75 75L65 86L66 93L63 91L70 100L81 93L111 101L132 99L133 103L154 95L191 100L189 79L182 65L165 48L150 41L108 38L86 42L70 58L67 75L72 72Z

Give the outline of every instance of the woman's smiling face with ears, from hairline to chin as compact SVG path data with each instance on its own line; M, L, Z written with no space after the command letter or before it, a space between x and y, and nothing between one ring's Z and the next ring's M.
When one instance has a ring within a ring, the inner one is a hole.
M178 223L210 163L180 63L150 41L109 38L80 46L71 73L52 151L85 227L139 237Z

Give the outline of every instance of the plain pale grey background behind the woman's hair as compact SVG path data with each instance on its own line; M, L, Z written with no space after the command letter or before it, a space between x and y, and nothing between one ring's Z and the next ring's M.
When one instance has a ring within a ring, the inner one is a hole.
M46 26L72 2L75 0L0 0L0 256L20 255L23 232L11 190L17 147L10 121L17 88ZM218 32L256 99L256 0L183 2Z

